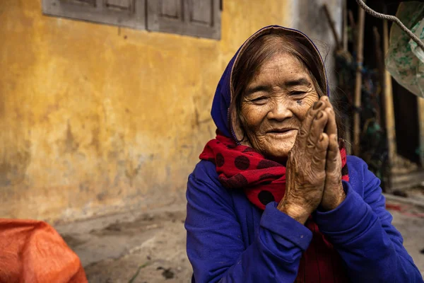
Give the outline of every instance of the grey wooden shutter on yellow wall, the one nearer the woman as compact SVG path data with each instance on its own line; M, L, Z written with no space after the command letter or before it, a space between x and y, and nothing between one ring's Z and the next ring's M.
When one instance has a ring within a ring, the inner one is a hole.
M147 0L147 29L220 38L220 0Z

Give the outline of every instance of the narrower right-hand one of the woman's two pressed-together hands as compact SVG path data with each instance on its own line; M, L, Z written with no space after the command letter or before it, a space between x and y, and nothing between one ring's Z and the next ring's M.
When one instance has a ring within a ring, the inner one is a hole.
M325 97L322 100L326 103L324 111L328 116L328 122L324 132L329 137L329 147L326 154L324 193L319 209L329 211L338 207L346 198L346 195L341 184L341 156L338 148L336 115L334 114L333 106L329 102L329 98Z

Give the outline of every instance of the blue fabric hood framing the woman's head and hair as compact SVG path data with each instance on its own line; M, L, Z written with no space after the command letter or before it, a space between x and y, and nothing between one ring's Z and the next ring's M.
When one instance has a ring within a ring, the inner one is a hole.
M310 42L311 47L316 50L317 56L321 58L322 66L324 68L324 61L322 60L321 54L319 54L318 48L316 47L316 45L314 45L312 40L307 37L307 35L300 32L299 30L295 30L292 28L284 28L280 25L269 25L258 30L243 43L243 45L235 53L234 57L232 57L227 67L225 68L223 76L221 76L220 78L220 81L215 91L215 96L213 97L211 116L218 130L226 137L232 137L233 139L235 139L235 141L238 140L233 129L234 125L232 125L230 113L230 105L232 102L231 73L232 67L235 65L235 62L237 60L237 56L241 52L243 52L244 48L249 45L249 42L252 42L257 37L269 33L278 33L279 30L284 30L285 32L292 31L293 33L298 33L307 38L307 40ZM326 93L327 95L329 95L328 83L326 86Z

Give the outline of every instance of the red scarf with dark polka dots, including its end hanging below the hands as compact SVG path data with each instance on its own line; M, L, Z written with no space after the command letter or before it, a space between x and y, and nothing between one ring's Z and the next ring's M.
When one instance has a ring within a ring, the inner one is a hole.
M340 153L342 180L348 181L346 149L343 147ZM283 198L285 167L264 158L249 146L237 145L232 139L218 134L216 139L208 141L199 157L216 165L218 178L224 187L244 190L249 201L260 209ZM295 282L348 282L340 255L319 232L311 217L305 226L312 231L313 237L302 255Z

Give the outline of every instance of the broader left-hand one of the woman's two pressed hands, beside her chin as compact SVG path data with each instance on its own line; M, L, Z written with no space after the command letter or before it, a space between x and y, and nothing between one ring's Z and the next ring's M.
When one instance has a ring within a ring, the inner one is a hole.
M324 194L329 147L329 136L324 129L331 114L325 110L327 102L328 98L321 98L308 110L288 154L285 195L278 209L302 224L322 203ZM331 188L326 190L328 199L332 196Z

